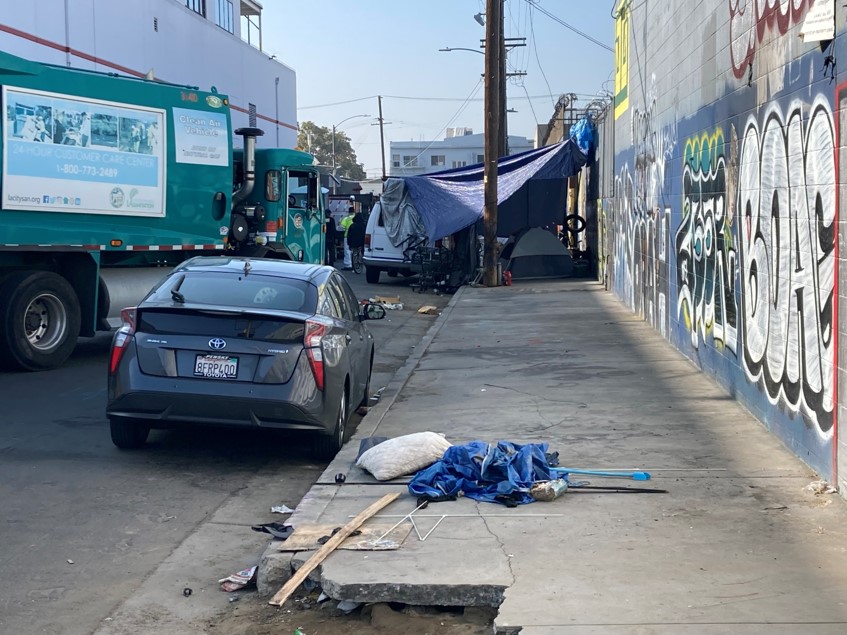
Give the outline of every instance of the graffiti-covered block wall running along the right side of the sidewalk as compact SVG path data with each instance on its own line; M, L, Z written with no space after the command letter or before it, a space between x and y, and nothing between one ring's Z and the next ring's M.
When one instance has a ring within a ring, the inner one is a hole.
M835 482L847 33L800 37L826 2L619 2L602 208L609 288Z

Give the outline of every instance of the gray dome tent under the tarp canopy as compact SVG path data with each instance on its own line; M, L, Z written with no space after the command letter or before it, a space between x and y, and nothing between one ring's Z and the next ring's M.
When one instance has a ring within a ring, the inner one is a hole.
M573 259L555 234L540 227L513 236L500 254L503 271L514 279L566 278L573 275Z

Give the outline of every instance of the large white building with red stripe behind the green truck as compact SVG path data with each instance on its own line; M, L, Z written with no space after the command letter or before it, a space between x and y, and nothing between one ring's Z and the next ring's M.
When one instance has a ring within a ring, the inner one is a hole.
M0 50L25 59L215 87L232 128L255 126L259 145L297 143L293 69L261 50L254 0L0 0Z

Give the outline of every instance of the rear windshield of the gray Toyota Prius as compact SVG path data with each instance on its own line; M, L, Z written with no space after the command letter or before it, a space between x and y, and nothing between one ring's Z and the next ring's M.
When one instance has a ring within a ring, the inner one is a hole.
M261 311L314 313L317 288L297 278L258 274L187 271L176 273L147 297L152 302L207 304Z

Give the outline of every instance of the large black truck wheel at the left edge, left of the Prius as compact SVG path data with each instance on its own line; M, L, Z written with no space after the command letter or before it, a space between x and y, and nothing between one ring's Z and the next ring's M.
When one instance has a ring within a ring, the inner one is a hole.
M0 287L0 362L24 370L62 365L79 336L76 293L62 276L22 271Z

